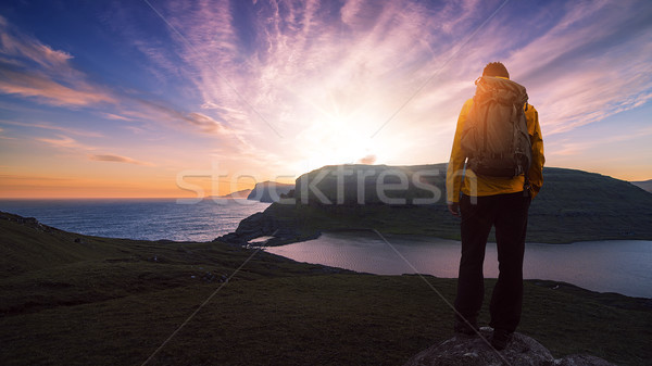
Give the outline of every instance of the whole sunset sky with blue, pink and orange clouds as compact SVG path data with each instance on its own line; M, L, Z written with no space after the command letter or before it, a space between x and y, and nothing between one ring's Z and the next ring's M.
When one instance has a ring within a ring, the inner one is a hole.
M501 61L547 166L652 179L652 2L5 1L0 198L226 194L448 162Z

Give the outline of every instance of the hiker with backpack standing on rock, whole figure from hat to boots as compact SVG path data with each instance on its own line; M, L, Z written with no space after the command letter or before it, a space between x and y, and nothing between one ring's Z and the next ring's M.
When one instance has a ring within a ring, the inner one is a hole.
M499 276L489 326L491 344L502 350L521 320L527 215L543 184L543 140L537 110L502 63L489 63L476 86L457 118L447 171L448 207L462 218L454 329L477 332L485 247L494 226Z

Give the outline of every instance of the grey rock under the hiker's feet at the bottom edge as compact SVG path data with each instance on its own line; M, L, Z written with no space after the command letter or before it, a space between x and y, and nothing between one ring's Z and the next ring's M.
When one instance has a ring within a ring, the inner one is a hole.
M482 338L455 336L418 353L404 366L615 366L590 355L569 355L555 359L535 339L514 333L503 351L493 350L489 340L491 328L481 328Z

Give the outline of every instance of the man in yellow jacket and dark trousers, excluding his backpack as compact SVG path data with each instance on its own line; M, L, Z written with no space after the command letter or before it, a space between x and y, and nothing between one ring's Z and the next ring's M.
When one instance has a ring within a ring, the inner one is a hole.
M500 62L489 63L482 71L482 76L510 79L507 70ZM517 84L513 85L521 87ZM477 332L477 317L485 294L485 247L489 231L494 226L499 277L491 296L489 325L493 328L491 344L497 350L502 350L521 321L527 215L531 199L537 195L543 184L543 140L537 110L525 102L523 108L531 146L529 167L524 169L524 174L513 177L476 174L467 163L469 156L466 156L462 142L464 126L473 104L474 99L467 100L457 118L447 171L448 207L451 214L462 218L462 258L455 299L455 331L466 335Z

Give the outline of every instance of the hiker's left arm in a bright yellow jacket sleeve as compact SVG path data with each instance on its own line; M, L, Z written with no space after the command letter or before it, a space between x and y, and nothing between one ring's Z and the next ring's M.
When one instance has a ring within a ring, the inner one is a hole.
M455 128L455 137L453 138L453 148L451 149L451 159L446 173L446 193L447 203L451 214L460 216L460 191L462 189L462 179L464 176L464 163L466 156L462 151L462 131L468 110L473 104L473 99L469 99L462 106L460 116L457 117L457 126Z

